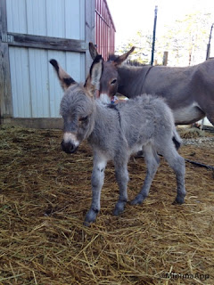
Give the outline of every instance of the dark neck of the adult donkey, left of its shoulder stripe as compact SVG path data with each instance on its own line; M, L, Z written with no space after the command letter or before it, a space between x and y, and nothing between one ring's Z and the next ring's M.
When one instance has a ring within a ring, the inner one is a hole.
M128 98L144 94L144 78L149 66L144 67L119 67L118 92Z

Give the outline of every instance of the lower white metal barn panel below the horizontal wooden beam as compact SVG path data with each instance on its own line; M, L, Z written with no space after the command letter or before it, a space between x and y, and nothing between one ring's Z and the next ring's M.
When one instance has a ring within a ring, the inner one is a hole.
M62 88L47 62L54 58L77 82L85 80L85 54L10 47L13 118L59 118Z

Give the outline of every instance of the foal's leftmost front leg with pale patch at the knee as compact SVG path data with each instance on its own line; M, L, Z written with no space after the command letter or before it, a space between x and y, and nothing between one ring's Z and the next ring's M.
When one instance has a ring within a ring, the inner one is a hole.
M94 167L91 177L92 183L92 203L91 208L86 213L85 225L95 222L96 216L100 211L100 197L104 181L104 170L107 160L99 156L94 156Z

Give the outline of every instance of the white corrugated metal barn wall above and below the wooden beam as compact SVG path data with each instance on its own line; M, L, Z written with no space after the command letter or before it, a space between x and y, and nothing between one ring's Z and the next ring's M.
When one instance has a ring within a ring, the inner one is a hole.
M8 32L85 39L85 0L7 0L6 7ZM50 59L85 80L85 53L10 46L9 57L14 118L60 117L62 89Z

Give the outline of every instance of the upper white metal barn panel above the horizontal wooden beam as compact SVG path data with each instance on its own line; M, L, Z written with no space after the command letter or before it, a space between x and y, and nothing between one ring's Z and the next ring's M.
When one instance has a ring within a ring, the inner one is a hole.
M8 32L85 39L85 0L7 0Z

